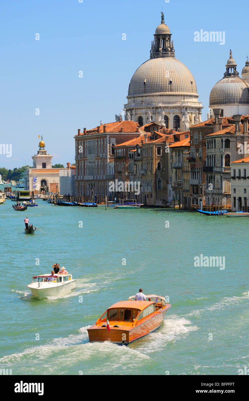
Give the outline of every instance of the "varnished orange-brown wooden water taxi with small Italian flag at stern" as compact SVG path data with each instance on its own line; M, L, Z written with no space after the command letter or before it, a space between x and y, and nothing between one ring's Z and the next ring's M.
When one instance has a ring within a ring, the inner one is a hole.
M146 301L128 301L111 305L97 322L87 329L90 342L110 341L128 345L157 330L171 307L163 296L146 295ZM148 299L148 300L147 300Z

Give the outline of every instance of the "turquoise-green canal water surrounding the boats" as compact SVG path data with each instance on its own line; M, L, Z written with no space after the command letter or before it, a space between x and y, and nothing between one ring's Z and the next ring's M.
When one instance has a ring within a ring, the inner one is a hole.
M12 375L237 375L249 367L247 219L38 203L24 213L7 210L11 201L0 206L1 369ZM46 234L25 235L26 215ZM200 254L224 256L225 269L195 267ZM32 276L55 262L73 273L75 292L30 298ZM87 328L140 287L169 296L172 307L160 329L128 347L90 344Z

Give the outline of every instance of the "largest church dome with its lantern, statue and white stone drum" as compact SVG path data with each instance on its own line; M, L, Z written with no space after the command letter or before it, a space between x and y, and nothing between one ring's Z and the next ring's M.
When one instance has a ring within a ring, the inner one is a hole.
M187 131L202 122L196 82L189 69L175 57L174 41L164 23L156 28L150 59L134 73L124 105L127 120L140 126L155 122L166 128Z

